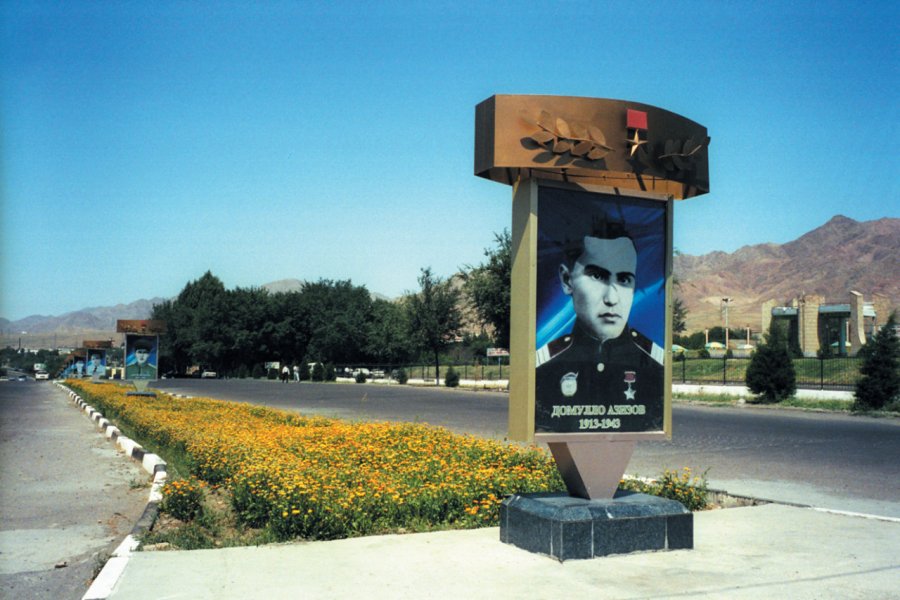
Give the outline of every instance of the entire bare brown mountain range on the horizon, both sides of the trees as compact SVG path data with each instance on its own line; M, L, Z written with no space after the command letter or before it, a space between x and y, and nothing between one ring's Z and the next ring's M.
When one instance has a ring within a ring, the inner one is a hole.
M900 219L855 221L838 215L786 244L757 244L736 252L702 256L678 254L674 272L677 292L687 309L687 331L724 324L723 298L729 325L758 332L761 305L768 300L789 304L802 295L826 302L848 302L850 290L875 304L884 322L900 307ZM299 290L303 282L282 279L262 285L271 293ZM373 293L373 298L387 299ZM98 306L60 316L33 315L17 321L0 318L0 345L31 348L74 347L85 339L115 338L117 319L146 319L164 298ZM22 340L22 332L27 332Z

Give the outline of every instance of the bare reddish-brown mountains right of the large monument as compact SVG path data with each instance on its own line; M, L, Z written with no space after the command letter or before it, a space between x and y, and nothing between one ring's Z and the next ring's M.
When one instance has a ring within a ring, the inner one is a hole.
M758 331L761 305L788 305L804 295L847 303L850 291L873 302L878 320L900 307L900 219L855 221L842 215L786 244L745 246L736 252L678 255L678 294L688 310L687 330L723 325Z

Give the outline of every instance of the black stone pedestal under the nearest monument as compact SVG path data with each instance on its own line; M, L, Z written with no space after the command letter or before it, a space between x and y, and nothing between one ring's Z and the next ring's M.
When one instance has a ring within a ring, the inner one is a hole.
M666 498L618 491L611 500L514 495L500 505L500 541L560 561L694 547L694 515Z

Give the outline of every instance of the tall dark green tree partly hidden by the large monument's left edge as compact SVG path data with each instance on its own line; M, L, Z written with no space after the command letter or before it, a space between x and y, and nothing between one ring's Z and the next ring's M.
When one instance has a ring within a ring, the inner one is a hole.
M498 346L509 348L510 286L512 274L512 238L509 231L494 234L493 248L486 248L487 261L463 270L466 295L482 325L494 330Z

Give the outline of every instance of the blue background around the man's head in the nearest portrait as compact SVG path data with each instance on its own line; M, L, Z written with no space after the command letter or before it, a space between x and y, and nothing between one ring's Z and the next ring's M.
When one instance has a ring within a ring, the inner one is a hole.
M666 205L662 201L541 187L538 194L537 348L572 331L575 310L560 285L567 233L584 231L595 215L624 221L637 250L630 327L665 347Z

